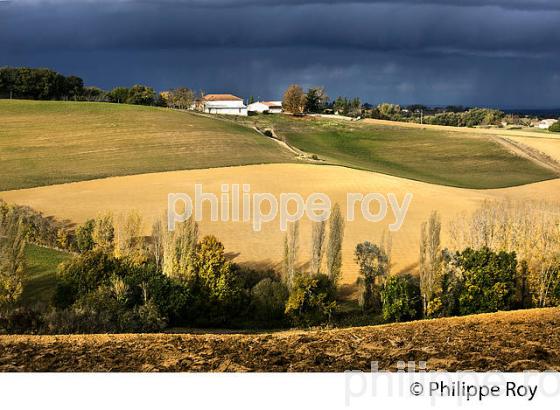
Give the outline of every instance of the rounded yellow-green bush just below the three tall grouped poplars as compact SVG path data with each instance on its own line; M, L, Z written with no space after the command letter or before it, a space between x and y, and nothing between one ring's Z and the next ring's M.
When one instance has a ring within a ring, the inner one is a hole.
M336 309L336 288L323 274L297 274L286 304L286 315L296 326L330 321Z

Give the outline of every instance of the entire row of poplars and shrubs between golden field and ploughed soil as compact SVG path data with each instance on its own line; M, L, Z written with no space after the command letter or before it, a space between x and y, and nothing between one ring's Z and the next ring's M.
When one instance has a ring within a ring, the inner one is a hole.
M433 212L420 229L418 274L392 274L392 237L355 247L360 313L339 308L345 221L340 207L311 229L310 260L289 226L279 272L228 260L193 220L164 218L144 236L137 212L99 215L70 229L0 201L0 329L15 333L146 332L169 326L285 327L400 322L560 305L557 204L486 202L449 223ZM73 252L46 307L19 304L26 243ZM348 319L351 321L348 322ZM356 320L358 321L356 321ZM362 320L362 322L360 322ZM363 320L369 320L363 322Z

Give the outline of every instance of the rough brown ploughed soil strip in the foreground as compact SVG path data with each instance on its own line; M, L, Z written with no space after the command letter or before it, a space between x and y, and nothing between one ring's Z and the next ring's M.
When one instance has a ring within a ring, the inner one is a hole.
M560 309L258 335L2 336L1 371L560 371Z

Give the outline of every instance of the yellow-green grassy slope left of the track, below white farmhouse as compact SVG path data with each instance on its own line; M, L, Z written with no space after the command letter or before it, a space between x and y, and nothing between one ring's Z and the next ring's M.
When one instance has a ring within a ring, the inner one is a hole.
M117 175L290 162L232 122L104 103L0 100L0 191Z

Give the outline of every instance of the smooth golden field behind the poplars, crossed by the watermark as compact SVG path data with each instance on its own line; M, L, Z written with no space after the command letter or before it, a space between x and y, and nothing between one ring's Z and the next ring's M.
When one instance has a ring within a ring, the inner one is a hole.
M445 246L446 221L461 212L474 210L484 200L510 198L552 201L558 200L560 193L560 179L512 188L472 190L336 166L271 164L113 177L2 192L0 198L29 205L45 215L74 223L81 223L104 211L118 215L138 210L144 216L148 233L152 221L166 210L168 193L193 195L196 183L203 185L204 192L216 194L220 193L221 184L250 184L252 193L270 192L277 198L280 193L297 192L305 198L311 193L322 192L329 195L333 203L340 203L343 215L346 215L348 192L377 192L385 196L394 193L399 203L410 192L414 197L407 218L401 230L393 234L393 272L414 269L419 252L420 224L427 220L433 210L442 215ZM356 220L347 224L344 237L342 281L345 284L354 283L357 277L357 266L353 262L356 244L364 240L378 242L388 224L394 222L390 208L387 218L379 223L365 221L360 213L356 215ZM204 209L204 217L202 233L216 235L236 262L278 267L284 235L279 230L278 220L265 224L261 232L254 232L250 223L209 222L208 206ZM302 264L309 259L310 227L311 224L304 218L300 229Z

